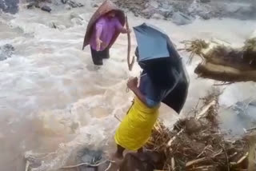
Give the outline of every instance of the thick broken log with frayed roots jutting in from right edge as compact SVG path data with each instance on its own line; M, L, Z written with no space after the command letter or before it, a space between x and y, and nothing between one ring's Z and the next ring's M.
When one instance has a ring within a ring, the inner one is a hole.
M194 70L199 77L221 82L256 81L256 38L250 38L236 49L198 39L183 43L185 48L181 50L190 53L190 62L195 54L202 58Z

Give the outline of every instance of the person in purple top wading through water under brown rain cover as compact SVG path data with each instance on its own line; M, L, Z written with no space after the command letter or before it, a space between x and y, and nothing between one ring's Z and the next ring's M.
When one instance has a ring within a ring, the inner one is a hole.
M125 15L108 0L102 4L91 18L84 39L85 46L90 44L92 60L95 66L102 66L103 59L110 58L110 47L120 33L130 30L124 27Z

